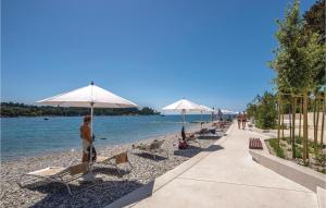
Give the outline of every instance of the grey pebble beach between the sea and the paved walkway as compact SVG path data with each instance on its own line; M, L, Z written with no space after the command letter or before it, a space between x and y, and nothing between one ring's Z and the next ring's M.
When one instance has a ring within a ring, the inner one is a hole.
M200 126L191 131L198 131ZM226 130L225 130L226 131ZM148 144L153 139L164 139L163 148L168 151L151 155L133 150L133 144L97 147L98 156L113 156L128 151L133 164L130 172L120 175L114 167L95 166L95 182L76 180L71 182L73 196L67 194L63 184L39 181L20 187L17 182L22 173L43 169L50 166L67 167L73 160L80 160L80 151L52 152L39 157L20 158L1 163L1 207L104 207L122 196L147 184L168 170L193 157L212 145L216 139L198 139L199 144L190 144L188 149L177 148L179 135L170 134L134 144Z

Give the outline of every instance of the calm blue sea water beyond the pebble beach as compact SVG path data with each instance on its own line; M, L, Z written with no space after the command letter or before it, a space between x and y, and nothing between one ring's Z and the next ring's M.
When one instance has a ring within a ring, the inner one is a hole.
M187 115L188 122L210 120L210 115ZM1 118L1 160L37 156L48 151L80 148L82 117ZM176 133L181 129L180 115L96 117L96 146L133 143ZM196 124L187 123L187 127ZM198 124L197 124L198 125ZM106 139L100 139L106 138Z

